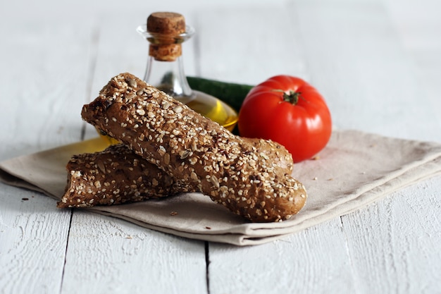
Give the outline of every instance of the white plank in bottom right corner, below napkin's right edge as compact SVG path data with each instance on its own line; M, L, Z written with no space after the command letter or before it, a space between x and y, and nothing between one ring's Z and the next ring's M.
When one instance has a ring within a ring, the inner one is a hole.
M362 293L437 293L441 286L441 177L342 217Z

